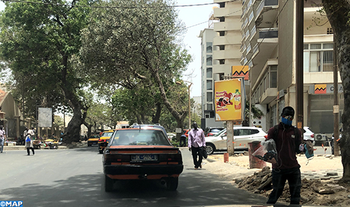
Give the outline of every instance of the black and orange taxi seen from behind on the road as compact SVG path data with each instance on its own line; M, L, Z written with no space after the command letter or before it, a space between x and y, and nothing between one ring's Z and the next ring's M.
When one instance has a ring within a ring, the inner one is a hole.
M103 151L103 172L106 192L122 179L158 179L176 190L183 158L161 129L117 129Z

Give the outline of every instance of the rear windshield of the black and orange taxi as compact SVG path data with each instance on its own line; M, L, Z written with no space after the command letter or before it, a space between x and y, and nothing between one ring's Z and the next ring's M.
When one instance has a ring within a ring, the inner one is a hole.
M171 146L159 130L119 130L114 134L111 146L163 145Z

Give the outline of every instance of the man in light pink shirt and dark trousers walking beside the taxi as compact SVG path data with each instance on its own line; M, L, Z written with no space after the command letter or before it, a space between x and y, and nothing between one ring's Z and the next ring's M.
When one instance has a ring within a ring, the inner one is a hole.
M205 150L205 137L201 128L198 128L196 122L192 124L193 129L188 132L188 148L192 151L194 169L202 168L203 155L201 148Z

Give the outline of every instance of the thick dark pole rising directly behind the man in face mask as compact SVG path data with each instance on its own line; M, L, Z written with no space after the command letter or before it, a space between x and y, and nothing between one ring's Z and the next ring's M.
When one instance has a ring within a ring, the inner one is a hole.
M296 0L296 113L300 129L304 126L304 0Z

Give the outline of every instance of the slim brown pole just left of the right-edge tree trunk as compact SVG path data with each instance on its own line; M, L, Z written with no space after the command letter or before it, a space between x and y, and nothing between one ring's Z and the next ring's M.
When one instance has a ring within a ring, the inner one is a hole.
M333 34L334 35L334 34ZM339 137L339 97L338 97L338 48L337 43L334 41L333 36L333 88L334 88L334 102L333 102L333 117L334 117L334 139L333 139L333 149L334 156L339 156L339 146L338 146L338 137Z

